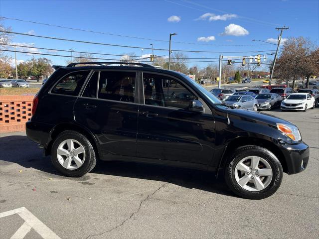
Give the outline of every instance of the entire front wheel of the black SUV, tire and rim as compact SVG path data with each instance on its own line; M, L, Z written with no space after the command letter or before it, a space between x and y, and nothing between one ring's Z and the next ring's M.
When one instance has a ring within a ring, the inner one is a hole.
M259 164L257 164L256 168L257 171L253 169L253 166L246 165L245 168L248 168L248 171L250 171L250 169L252 170L250 172L247 171L239 178L239 174L243 172L236 166L240 164L243 165L241 161L246 160L247 158L247 161L249 162L249 158L252 157L259 159ZM263 165L267 166L264 166L265 168L259 168ZM262 170L264 170L264 172L267 170L267 174L271 174L271 176L259 176L257 173L261 174ZM249 175L247 173L249 173ZM237 174L237 176L235 174ZM249 181L244 186L241 186L238 183L238 180L245 178ZM228 187L242 198L254 200L267 198L277 191L281 185L282 179L283 167L278 158L268 149L256 145L247 145L237 148L228 158L225 167L225 181ZM255 184L255 182L261 182L261 184ZM264 185L265 187L258 188L260 185Z

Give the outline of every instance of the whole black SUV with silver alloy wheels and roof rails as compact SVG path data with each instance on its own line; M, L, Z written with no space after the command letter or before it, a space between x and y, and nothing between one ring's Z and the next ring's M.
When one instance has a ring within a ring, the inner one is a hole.
M26 123L63 175L80 177L97 160L182 166L213 171L241 197L262 199L283 172L307 167L309 147L289 121L228 106L178 72L78 64L55 67Z

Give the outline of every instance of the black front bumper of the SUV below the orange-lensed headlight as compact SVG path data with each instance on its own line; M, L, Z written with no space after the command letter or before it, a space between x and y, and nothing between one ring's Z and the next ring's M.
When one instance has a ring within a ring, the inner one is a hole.
M310 150L306 143L279 145L279 147L286 158L288 174L300 173L307 168Z

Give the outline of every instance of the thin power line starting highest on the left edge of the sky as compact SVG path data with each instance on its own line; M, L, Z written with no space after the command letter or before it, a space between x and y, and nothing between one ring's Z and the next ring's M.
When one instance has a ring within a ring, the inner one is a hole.
M59 28L64 28L64 29L69 29L69 30L84 31L84 32L104 34L104 35L111 35L111 36L127 37L127 38L150 40L150 41L169 42L168 40L152 39L152 38L137 37L137 36L127 36L127 35L120 35L120 34L115 34L115 33L86 30L86 29L73 28L73 27L68 27L68 26L60 26L60 25L54 25L54 24L30 21L30 20L22 20L22 19L18 19L18 18L11 18L11 17L5 17L5 16L0 16L0 18L8 19L8 20L15 20L15 21L22 21L22 22L29 22L29 23L33 23L33 24L46 25L46 26L52 26L52 27L59 27ZM180 43L180 44L204 45L204 46L263 46L263 45L266 45L266 44L247 44L247 45L208 44L208 43L194 43L194 42L182 42L182 41L171 41L171 42Z

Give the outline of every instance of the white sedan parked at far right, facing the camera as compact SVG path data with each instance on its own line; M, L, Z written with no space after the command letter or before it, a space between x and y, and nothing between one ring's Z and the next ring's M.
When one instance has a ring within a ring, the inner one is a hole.
M307 111L307 109L315 109L315 98L308 93L293 93L282 101L280 109Z

